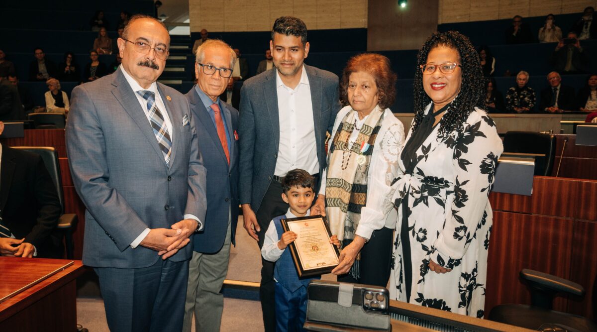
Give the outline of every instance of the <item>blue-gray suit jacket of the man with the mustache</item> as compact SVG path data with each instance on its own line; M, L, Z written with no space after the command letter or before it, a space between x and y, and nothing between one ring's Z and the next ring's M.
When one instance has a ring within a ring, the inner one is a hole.
M87 207L85 265L153 265L160 259L156 251L130 247L145 228L170 228L184 214L205 220L206 171L195 119L182 94L160 83L158 90L173 126L170 165L121 70L72 92L66 147L75 188ZM183 125L185 116L189 122ZM192 249L189 244L170 259L189 259Z

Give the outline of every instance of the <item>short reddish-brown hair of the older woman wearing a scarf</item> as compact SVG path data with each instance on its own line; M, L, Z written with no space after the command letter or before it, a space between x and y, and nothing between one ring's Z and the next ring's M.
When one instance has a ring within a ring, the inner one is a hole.
M346 106L348 100L348 80L354 72L366 72L375 78L379 107L384 110L392 106L396 99L396 74L392 71L390 59L377 53L362 53L351 57L342 70L340 79L340 100Z

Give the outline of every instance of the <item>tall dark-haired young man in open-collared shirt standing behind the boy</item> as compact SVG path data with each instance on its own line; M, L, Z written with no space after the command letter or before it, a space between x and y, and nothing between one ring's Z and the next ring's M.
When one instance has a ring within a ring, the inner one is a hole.
M239 118L244 227L260 248L270 220L288 210L282 201L281 178L294 168L315 176L322 173L325 133L332 131L341 107L338 76L303 64L309 54L303 21L290 16L276 19L270 50L276 70L245 81ZM261 263L261 310L269 332L276 328L274 265L263 259Z

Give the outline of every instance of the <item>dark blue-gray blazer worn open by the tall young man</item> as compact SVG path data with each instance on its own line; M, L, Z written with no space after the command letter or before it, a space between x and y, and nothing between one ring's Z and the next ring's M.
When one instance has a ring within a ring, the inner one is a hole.
M332 131L336 114L341 109L338 76L326 70L304 65L311 88L313 121L319 173L326 166L325 133ZM267 70L244 82L239 110L241 204L251 204L257 211L272 182L278 158L280 124L276 70ZM317 185L319 187L319 183ZM318 191L316 188L315 192Z

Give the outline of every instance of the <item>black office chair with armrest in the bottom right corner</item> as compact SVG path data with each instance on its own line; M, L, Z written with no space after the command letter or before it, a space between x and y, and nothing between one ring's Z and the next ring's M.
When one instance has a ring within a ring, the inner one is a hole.
M521 278L528 281L531 305L498 305L491 309L489 319L539 331L597 331L597 324L583 316L552 310L558 293L584 296L581 285L530 269L522 269ZM593 288L593 297L596 292Z

